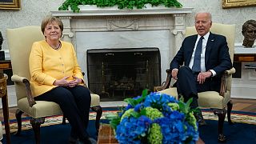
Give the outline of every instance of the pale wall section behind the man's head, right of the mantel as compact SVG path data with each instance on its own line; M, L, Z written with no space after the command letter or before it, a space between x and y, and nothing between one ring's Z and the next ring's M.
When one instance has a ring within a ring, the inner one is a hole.
M179 0L184 7L193 7L192 14L187 26L194 26L194 14L198 11L209 11L213 22L236 25L235 43L242 43L242 25L249 19L256 20L256 6L222 9L222 0Z

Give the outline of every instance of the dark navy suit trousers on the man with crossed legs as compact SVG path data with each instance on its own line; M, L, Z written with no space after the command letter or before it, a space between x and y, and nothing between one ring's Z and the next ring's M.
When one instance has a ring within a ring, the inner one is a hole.
M177 93L183 96L185 102L190 98L197 100L198 92L210 90L210 78L206 78L203 84L199 84L197 77L198 73L194 73L189 66L181 66L178 70Z

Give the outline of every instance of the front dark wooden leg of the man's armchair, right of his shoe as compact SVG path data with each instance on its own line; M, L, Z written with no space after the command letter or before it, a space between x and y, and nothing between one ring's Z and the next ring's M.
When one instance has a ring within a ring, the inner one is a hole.
M218 115L218 142L225 142L226 136L224 136L223 134L223 125L226 117L226 110L225 109L214 110L214 114Z

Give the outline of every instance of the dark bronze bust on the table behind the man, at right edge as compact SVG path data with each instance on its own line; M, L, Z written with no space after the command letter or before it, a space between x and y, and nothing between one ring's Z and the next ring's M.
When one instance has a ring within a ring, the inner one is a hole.
M245 37L242 46L252 47L256 39L256 21L248 20L242 25L242 35Z

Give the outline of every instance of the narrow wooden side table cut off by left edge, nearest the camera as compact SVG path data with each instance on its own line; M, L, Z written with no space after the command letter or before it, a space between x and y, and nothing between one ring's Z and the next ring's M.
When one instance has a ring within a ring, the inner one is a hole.
M3 78L0 78L0 98L2 98L2 113L5 122L6 142L7 144L10 144L9 106L6 86L7 78L8 76L6 74L3 75Z

